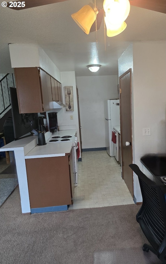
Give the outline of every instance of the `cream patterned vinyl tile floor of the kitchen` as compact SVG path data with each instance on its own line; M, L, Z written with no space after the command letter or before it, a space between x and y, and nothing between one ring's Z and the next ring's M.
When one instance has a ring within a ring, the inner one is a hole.
M78 166L78 186L71 209L134 204L121 177L121 166L105 150L82 152Z

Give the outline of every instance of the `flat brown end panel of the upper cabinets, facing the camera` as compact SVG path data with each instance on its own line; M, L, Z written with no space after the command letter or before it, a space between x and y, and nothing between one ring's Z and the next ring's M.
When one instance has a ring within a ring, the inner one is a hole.
M20 114L42 112L39 72L36 67L15 68Z

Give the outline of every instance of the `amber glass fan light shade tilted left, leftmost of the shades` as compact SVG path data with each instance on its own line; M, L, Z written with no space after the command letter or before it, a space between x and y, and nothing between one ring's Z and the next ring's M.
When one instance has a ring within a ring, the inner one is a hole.
M78 12L71 15L77 25L88 35L92 24L96 19L98 10L95 10L90 5L83 6Z

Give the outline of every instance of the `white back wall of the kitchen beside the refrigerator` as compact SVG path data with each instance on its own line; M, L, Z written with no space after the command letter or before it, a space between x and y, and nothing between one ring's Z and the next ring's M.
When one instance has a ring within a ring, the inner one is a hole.
M106 147L104 101L118 98L117 75L77 77L82 148Z

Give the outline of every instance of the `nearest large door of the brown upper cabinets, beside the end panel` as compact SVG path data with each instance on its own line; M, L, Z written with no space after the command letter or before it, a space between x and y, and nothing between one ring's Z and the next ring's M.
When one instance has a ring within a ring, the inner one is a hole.
M42 95L42 109L44 112L49 111L49 96L47 88L47 73L39 69L40 76L40 86L41 86L41 95Z

